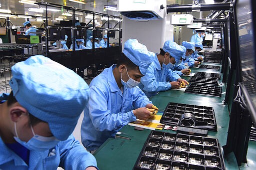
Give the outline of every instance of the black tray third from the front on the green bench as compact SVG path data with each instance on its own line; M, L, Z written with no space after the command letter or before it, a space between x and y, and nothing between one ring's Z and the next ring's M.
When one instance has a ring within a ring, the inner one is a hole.
M222 88L219 86L191 83L185 93L201 94L206 96L221 97Z

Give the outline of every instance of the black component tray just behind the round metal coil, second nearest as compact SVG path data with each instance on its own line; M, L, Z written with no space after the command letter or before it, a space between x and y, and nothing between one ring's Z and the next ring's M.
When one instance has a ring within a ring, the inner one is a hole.
M197 122L207 122L208 125L214 126L214 128L208 128L210 131L217 131L217 124L215 119L215 113L212 107L187 105L181 103L169 102L162 117L160 123L176 126L180 116L184 113L191 113L194 115Z

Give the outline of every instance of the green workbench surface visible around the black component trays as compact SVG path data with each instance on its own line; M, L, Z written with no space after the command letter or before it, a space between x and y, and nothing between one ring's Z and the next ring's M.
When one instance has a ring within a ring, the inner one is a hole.
M218 65L204 62L206 65ZM199 69L191 68L191 73L200 72L212 72L220 73L219 71L209 70L209 69ZM181 78L188 80L189 77L182 76ZM222 80L219 80L219 83ZM213 107L215 112L215 118L217 123L217 132L208 131L209 138L217 138L220 146L226 144L228 123L229 123L229 112L228 106L223 105L222 101L225 98L225 85L220 85L222 87L221 97L203 96L197 94L184 93L184 91L178 90L167 90L164 92L159 92L157 95L152 96L150 100L152 103L159 108L159 112L162 113L168 104L168 102L183 103L191 105L201 105ZM176 133L171 130L162 130L164 132ZM100 170L132 170L139 153L147 139L147 136L151 130L144 129L143 131L134 130L133 126L126 125L120 132L121 136L124 138L109 138L107 139L101 147L93 154L97 160L97 166ZM222 150L222 148L221 148ZM248 164L242 164L241 167L237 167L234 155L231 153L226 158L224 158L225 169L226 170L255 170L256 169L256 142L249 141L249 148L247 153ZM223 154L223 150L222 150Z

